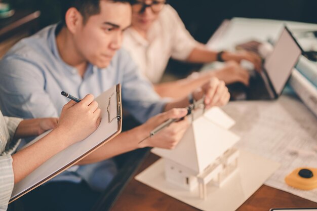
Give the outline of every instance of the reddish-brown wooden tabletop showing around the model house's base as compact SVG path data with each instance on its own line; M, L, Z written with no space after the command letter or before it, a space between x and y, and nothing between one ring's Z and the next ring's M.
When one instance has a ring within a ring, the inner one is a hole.
M153 162L159 159L154 154L149 154L136 174L139 174ZM290 193L262 185L242 206L237 210L268 211L272 207L317 207L317 203L300 198ZM101 209L100 209L101 210ZM160 191L132 179L122 194L114 203L111 211L156 211L156 210L199 210L174 199Z

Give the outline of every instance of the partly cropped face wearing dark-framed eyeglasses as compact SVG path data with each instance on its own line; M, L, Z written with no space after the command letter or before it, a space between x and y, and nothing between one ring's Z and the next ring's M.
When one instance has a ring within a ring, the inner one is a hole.
M151 5L142 9L142 4ZM132 25L143 31L147 31L152 23L159 17L161 10L165 4L165 0L137 0L132 6Z

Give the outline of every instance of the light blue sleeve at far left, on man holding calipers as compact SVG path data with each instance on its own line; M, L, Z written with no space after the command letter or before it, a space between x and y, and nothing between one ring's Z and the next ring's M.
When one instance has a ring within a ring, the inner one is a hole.
M12 56L0 62L0 109L7 116L22 118L57 117L58 112L45 92L45 73L26 59Z

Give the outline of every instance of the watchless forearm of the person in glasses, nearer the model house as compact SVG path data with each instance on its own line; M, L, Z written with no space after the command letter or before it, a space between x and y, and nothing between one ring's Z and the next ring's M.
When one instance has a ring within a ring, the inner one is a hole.
M210 71L206 73L197 73L197 77L188 77L172 82L161 83L158 85L154 85L154 90L161 97L169 97L175 100L183 99L188 96L191 92L203 86L206 82L208 82L213 76L215 72Z

